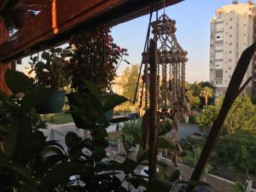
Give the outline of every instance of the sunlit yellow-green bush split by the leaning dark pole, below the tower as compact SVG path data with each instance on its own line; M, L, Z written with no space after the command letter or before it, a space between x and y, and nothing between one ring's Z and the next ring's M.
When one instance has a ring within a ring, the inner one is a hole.
M223 99L220 98L216 106L207 106L199 116L199 123L204 126L210 126L213 120L217 118L219 108ZM249 96L242 95L236 98L230 113L224 121L224 128L229 132L239 130L256 131L256 106L250 100Z

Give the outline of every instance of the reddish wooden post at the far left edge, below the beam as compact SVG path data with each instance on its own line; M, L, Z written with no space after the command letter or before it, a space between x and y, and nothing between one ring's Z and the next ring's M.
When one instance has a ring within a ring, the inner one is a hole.
M0 44L9 38L9 32L3 26L3 23L0 21ZM12 68L11 63L0 63L0 91L3 91L6 94L10 94L10 90L5 84L4 74L6 69Z

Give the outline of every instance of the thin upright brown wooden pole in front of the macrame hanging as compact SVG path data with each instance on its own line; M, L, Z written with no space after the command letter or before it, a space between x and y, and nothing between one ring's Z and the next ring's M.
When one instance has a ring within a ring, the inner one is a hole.
M150 39L150 125L149 125L149 182L156 176L156 150L157 150L157 45Z

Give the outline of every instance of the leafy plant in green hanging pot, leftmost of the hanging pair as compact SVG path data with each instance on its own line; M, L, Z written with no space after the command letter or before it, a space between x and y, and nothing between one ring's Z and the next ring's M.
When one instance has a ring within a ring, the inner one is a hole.
M31 57L30 73L34 73L34 86L48 89L48 96L36 106L38 113L61 112L66 96L64 88L70 84L68 54L68 49L56 48L44 51L41 61L38 61L38 56Z

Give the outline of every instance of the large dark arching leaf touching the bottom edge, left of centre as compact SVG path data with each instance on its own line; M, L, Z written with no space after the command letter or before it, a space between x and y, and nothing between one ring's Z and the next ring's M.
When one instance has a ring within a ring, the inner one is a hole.
M43 178L40 191L54 191L55 186L60 183L67 183L69 177L77 175L86 170L86 166L78 162L62 162L54 166Z

